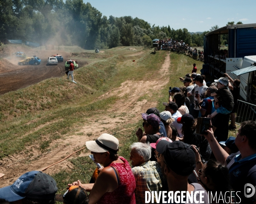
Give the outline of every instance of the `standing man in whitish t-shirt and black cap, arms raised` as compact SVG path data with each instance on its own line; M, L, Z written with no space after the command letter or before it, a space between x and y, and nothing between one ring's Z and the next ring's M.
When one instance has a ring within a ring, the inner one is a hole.
M202 76L198 75L193 79L195 81L195 87L193 90L189 91L188 96L194 95L194 111L193 117L198 118L199 114L199 102L204 99L204 92L207 90L207 86L203 84L204 79Z

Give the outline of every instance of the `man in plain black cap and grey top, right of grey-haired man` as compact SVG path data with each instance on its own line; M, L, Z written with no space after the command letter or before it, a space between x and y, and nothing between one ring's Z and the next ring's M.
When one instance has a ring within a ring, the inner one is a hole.
M186 191L187 193L191 193L195 195L194 200L200 201L200 194L204 195L202 201L205 204L208 204L208 194L204 188L198 183L189 184L188 177L193 173L195 169L195 153L192 148L189 147L188 144L185 144L180 141L174 141L172 143L168 143L166 141L160 141L157 144L157 147L163 149L163 156L161 159L161 169L164 172L169 192L173 192L173 194ZM200 193L199 193L199 192ZM197 193L195 193L197 192ZM183 199L181 197L181 199ZM186 199L186 196L185 196ZM168 196L166 201L168 200ZM186 200L184 200L186 202ZM183 200L181 201L183 202ZM194 203L194 202L193 202Z

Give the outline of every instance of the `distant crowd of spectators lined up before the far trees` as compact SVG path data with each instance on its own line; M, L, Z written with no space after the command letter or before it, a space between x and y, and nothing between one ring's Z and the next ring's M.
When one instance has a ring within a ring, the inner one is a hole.
M155 50L176 51L178 53L184 53L195 60L204 61L204 51L198 50L197 48L192 48L183 40L178 41L170 38L156 41L156 43L158 43L158 46L155 48Z

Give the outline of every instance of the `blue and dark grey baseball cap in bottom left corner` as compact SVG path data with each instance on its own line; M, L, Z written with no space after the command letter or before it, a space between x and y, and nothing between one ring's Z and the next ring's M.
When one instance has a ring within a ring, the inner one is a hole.
M56 181L41 171L24 173L11 186L0 189L0 198L8 202L23 198L53 200L58 187Z

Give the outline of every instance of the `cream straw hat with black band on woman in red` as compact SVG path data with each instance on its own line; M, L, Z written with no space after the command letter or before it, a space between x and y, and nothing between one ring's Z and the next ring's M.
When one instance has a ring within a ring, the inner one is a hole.
M87 141L85 145L88 150L96 153L113 152L117 153L119 141L113 135L103 133L96 141Z

